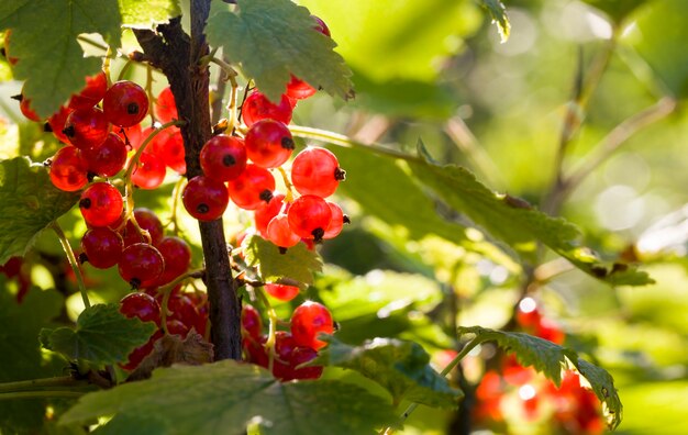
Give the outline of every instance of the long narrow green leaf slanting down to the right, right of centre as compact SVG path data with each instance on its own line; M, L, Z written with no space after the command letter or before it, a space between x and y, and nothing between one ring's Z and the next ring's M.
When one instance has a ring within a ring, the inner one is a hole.
M428 155L422 142L419 142L419 153ZM463 167L440 166L425 158L407 161L413 174L450 207L465 213L526 259L534 258L539 241L580 270L612 286L654 282L634 266L601 263L593 252L580 246L581 235L576 226L562 217L548 216L522 199L488 189Z

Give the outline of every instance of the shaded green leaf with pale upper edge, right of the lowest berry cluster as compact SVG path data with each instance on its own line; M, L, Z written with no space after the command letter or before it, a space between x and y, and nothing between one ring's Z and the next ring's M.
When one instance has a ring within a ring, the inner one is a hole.
M393 338L375 338L362 346L346 345L332 336L314 365L356 370L382 386L393 403L402 399L429 406L454 408L463 397L446 378L430 367L430 355L418 344Z

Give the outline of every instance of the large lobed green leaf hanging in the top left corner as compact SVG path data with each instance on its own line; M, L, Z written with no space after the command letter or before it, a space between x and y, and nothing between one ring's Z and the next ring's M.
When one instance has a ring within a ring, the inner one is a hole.
M19 58L14 78L26 80L23 93L41 116L48 116L84 88L101 59L84 57L82 33L100 33L114 49L122 23L116 0L5 0L0 30L12 29L11 53Z

